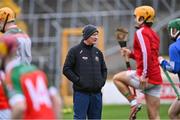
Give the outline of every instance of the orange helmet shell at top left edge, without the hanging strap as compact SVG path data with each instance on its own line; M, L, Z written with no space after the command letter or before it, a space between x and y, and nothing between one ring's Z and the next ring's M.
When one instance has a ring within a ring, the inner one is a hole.
M0 9L0 21L11 22L15 20L15 13L8 7L3 7Z

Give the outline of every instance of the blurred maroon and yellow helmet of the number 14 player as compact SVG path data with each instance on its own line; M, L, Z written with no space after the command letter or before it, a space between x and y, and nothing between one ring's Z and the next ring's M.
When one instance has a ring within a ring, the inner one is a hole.
M16 52L18 44L15 36L3 36L0 38L0 59Z

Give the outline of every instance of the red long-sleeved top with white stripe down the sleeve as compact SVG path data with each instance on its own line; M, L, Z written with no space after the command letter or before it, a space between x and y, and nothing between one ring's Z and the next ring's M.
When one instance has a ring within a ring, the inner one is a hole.
M152 84L162 83L158 62L159 45L159 37L150 27L144 25L136 31L131 54L136 61L136 74L148 77L148 82Z

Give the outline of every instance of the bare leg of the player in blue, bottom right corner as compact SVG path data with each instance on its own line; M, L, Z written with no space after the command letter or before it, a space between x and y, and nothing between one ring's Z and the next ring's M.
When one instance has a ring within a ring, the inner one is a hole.
M168 110L168 115L170 119L180 119L180 100L175 100L169 110Z

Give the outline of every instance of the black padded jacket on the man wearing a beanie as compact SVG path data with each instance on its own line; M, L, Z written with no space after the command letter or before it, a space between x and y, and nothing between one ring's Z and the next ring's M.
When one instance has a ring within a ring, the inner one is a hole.
M63 74L73 82L75 91L100 92L107 78L107 68L102 52L82 41L69 50Z

